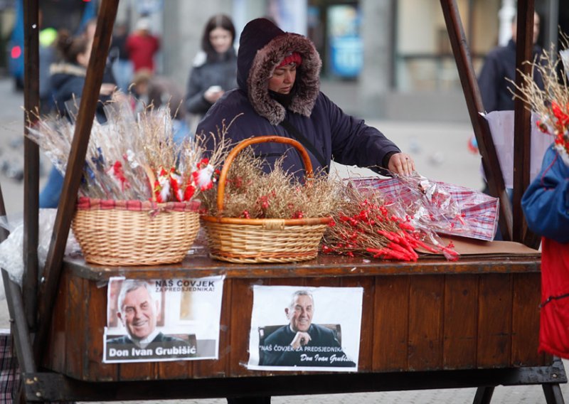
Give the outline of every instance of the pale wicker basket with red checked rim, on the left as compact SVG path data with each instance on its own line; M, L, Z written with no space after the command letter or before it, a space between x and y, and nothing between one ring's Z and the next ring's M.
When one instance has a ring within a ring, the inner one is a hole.
M199 230L198 202L79 198L72 228L85 261L100 265L180 262Z

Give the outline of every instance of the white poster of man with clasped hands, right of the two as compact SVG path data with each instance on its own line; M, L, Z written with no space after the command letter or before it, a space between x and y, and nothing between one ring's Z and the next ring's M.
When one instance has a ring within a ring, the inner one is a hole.
M363 287L253 286L248 369L357 371Z

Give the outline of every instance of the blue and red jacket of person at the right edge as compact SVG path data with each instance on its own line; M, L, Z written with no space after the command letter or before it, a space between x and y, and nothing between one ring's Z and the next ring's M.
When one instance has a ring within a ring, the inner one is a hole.
M541 242L539 350L569 358L569 166L553 148L521 200Z

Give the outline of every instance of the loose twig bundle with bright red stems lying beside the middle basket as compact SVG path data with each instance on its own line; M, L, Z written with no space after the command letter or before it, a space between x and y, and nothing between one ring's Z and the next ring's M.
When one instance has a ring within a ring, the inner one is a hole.
M342 204L332 216L334 223L324 234L322 252L416 261L415 250L422 249L457 260L452 243L442 245L434 232L415 228L404 219L405 213L398 213L394 206L385 203L379 191L348 182L342 195Z

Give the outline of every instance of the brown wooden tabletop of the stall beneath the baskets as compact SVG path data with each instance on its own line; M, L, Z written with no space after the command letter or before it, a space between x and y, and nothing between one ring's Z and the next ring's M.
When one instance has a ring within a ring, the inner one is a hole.
M89 280L107 280L113 276L156 279L164 277L206 277L225 275L228 278L259 277L351 277L376 275L437 275L539 272L541 255L492 254L462 255L451 262L440 255L424 255L417 262L385 261L370 257L318 255L314 260L282 264L233 264L212 260L204 248L196 248L179 264L140 267L107 267L92 265L82 256L67 257L66 270Z

